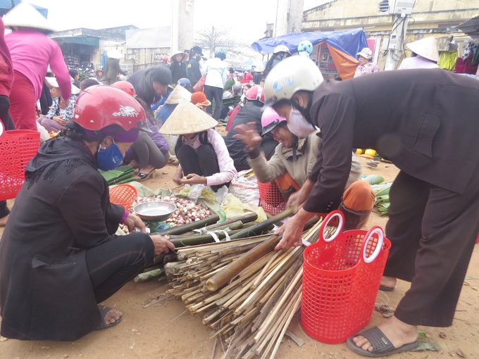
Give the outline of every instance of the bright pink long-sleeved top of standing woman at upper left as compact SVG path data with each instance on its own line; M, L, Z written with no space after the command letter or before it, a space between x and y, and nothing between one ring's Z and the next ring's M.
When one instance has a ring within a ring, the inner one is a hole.
M70 75L60 46L54 40L42 32L20 30L7 34L5 41L10 50L13 68L32 82L35 99L39 99L42 94L49 63L60 86L61 96L70 99Z

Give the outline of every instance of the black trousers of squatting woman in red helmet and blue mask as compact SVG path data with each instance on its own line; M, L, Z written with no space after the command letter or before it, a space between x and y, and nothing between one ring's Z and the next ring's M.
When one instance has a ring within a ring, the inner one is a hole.
M97 303L115 294L153 262L149 235L132 233L87 250L87 268Z

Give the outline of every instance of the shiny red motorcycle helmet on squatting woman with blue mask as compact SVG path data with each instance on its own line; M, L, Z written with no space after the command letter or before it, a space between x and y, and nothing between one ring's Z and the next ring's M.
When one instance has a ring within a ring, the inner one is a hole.
M91 131L118 125L125 131L138 128L151 132L138 101L120 89L105 85L88 87L78 96L72 120Z

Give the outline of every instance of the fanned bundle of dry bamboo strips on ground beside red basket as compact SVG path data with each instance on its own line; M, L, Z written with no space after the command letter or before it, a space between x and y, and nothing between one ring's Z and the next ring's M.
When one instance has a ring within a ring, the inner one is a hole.
M305 232L304 239L316 241L320 225L321 220ZM202 316L203 324L213 329L211 338L227 343L223 358L274 358L300 306L304 246L285 251L269 246L261 256L251 256L268 241L278 238L251 237L181 248L178 262L165 265L172 285L167 293L181 298L192 314ZM237 272L230 271L245 258L254 260ZM224 285L206 284L225 272L228 282Z

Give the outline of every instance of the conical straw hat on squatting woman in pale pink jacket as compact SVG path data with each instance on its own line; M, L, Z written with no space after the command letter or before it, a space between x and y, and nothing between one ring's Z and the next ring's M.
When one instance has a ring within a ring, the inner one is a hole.
M209 130L218 122L189 101L181 101L163 126L162 134L188 134Z

